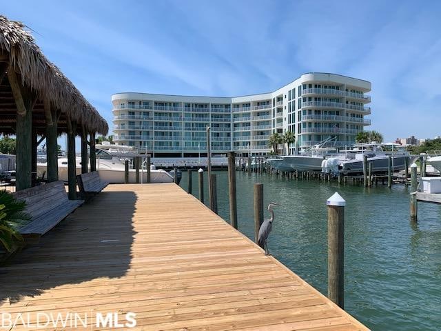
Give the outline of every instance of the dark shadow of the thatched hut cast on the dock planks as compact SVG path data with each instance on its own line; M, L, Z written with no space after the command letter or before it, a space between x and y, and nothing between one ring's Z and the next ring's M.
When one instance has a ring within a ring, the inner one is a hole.
M59 285L123 277L132 259L136 200L134 192L101 192L0 266L0 305Z

